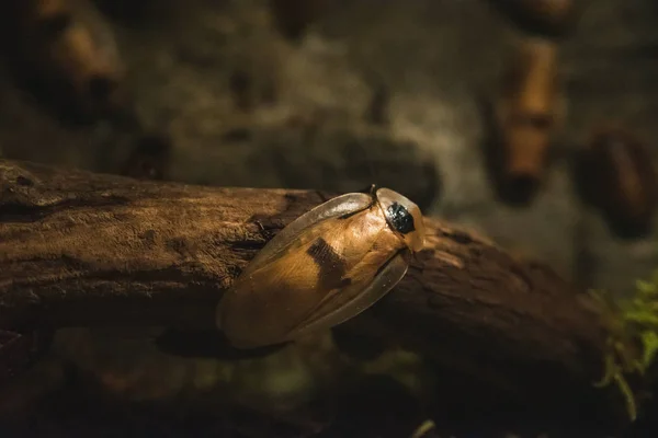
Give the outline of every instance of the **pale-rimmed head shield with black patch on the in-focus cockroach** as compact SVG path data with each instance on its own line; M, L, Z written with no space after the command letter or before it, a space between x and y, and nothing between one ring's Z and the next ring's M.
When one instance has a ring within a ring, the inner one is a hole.
M375 196L388 226L407 243L411 252L422 250L424 227L420 208L407 197L388 188L377 188Z

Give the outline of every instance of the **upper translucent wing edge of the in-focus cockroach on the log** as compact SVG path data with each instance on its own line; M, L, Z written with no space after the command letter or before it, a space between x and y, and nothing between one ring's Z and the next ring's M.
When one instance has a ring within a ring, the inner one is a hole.
M243 275L258 269L274 258L282 250L293 243L304 230L325 220L360 211L373 204L373 197L365 193L348 193L321 204L308 212L299 216L281 230L251 260L242 272Z

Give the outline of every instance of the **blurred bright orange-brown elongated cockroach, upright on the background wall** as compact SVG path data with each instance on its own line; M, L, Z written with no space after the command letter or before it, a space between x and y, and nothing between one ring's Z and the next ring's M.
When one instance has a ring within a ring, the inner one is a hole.
M510 188L529 192L543 180L551 137L560 116L557 106L556 44L522 42L498 107L500 172Z

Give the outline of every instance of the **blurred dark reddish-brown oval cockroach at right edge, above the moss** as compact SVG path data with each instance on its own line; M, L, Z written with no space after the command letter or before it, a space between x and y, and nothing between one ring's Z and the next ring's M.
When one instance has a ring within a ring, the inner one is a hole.
M597 131L581 160L586 196L601 209L617 234L648 232L658 201L658 176L650 153L629 132Z

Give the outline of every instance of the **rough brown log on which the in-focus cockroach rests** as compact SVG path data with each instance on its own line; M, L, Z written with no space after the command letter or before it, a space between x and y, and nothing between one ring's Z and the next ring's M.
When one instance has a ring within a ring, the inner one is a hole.
M330 196L0 161L0 327L212 327L223 290L258 250ZM484 239L436 219L427 227L427 250L363 318L436 364L442 390L462 394L449 411L500 407L506 394L581 419L616 412L616 392L591 385L605 334L583 295Z

